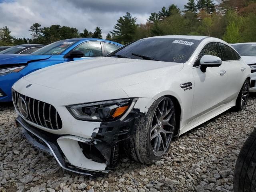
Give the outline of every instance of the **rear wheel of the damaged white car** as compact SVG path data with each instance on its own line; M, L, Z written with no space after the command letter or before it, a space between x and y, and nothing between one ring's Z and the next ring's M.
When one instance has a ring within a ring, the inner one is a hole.
M246 109L248 98L249 98L249 91L250 91L250 81L246 79L236 99L236 106L234 107L234 109L237 112Z

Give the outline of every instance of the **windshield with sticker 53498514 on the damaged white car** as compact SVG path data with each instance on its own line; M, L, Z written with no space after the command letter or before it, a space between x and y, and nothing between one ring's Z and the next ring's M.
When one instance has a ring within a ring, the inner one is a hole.
M149 38L138 40L108 56L184 63L199 43L193 39Z

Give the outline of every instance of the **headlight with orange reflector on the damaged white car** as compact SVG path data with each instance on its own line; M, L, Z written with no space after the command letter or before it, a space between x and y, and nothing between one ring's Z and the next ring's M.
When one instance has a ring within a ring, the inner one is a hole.
M132 109L138 99L120 99L67 106L67 109L78 120L114 121Z

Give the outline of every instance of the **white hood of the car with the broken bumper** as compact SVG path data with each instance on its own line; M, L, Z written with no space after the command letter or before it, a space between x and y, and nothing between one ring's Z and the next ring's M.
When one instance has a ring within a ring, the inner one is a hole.
M96 86L124 88L161 77L159 70L163 68L174 68L172 72L177 72L182 66L180 63L104 57L57 64L24 78L54 89L81 92Z

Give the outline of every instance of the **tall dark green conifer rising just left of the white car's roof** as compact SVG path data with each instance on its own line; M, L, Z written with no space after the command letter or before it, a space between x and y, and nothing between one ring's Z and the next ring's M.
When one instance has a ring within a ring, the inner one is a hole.
M125 16L117 20L114 30L110 33L112 34L112 39L116 42L127 44L133 41L136 28L136 18L127 12Z

